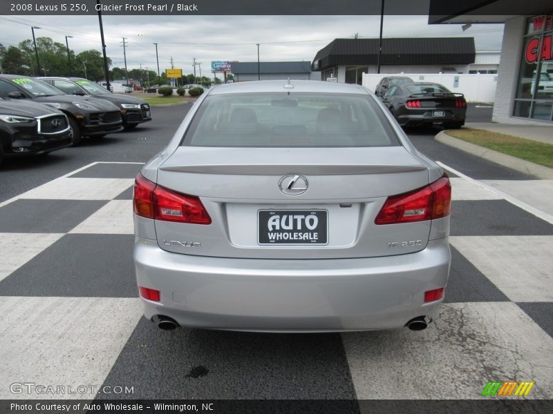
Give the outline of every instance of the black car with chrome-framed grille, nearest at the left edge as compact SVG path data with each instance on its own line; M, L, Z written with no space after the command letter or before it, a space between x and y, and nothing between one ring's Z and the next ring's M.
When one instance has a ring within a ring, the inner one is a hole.
M71 129L63 112L0 98L0 164L4 157L48 154L70 145Z

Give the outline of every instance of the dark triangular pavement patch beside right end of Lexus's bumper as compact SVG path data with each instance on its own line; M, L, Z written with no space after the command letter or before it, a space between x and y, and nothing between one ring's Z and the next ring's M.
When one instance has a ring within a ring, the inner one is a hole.
M465 256L451 246L451 270L445 288L444 303L510 302Z

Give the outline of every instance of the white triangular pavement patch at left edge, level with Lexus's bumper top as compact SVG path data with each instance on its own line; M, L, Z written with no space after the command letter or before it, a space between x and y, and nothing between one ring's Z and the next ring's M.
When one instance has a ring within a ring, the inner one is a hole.
M0 233L0 280L48 248L62 233Z

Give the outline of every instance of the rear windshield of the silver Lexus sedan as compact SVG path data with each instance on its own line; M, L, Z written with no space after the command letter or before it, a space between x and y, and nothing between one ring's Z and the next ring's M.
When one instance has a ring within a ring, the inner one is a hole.
M185 146L398 146L368 95L247 93L211 95L200 104Z

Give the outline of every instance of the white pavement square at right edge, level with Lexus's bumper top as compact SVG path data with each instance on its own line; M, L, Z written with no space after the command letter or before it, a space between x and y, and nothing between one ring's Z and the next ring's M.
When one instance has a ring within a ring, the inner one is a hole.
M553 236L458 236L449 242L513 302L553 302Z

